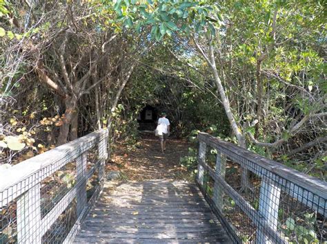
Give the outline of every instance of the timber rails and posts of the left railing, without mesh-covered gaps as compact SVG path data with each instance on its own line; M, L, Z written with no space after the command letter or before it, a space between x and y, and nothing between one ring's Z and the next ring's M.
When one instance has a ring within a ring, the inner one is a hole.
M42 236L76 199L77 221L64 242L72 241L78 230L79 221L85 217L90 204L99 197L103 188L105 163L108 157L107 144L108 130L101 129L0 172L0 208L8 206L12 201L17 202L18 243L41 243ZM87 153L94 146L98 148L97 162L87 170ZM75 161L77 169L75 186L61 196L50 212L41 217L41 181ZM95 192L88 202L86 183L96 171L98 185L95 186Z

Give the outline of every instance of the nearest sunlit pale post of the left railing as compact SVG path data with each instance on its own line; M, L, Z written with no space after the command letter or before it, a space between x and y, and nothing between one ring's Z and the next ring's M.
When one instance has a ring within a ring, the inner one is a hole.
M40 187L30 188L17 201L17 243L41 243Z

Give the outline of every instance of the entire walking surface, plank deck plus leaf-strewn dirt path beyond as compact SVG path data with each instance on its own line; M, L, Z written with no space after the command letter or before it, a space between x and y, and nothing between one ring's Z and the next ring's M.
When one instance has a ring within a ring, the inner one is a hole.
M230 243L196 184L181 180L187 150L170 140L163 154L154 136L130 153L119 148L110 167L129 181L106 182L75 243Z

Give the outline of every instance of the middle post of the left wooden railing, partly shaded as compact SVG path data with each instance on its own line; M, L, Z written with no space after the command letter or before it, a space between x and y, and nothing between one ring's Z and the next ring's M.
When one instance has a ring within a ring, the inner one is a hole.
M77 216L81 214L88 201L86 197L86 164L88 153L83 153L77 157Z

